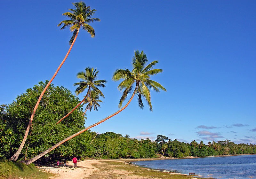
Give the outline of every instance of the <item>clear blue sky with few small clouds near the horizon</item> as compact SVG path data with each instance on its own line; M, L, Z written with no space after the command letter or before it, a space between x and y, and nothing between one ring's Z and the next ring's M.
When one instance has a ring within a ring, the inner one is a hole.
M39 81L49 80L68 51L71 32L57 27L73 1L1 1L0 104ZM131 138L165 135L190 143L229 139L256 144L255 1L84 1L100 22L95 38L80 31L53 80L73 93L76 73L97 67L108 81L104 103L88 112L89 126L118 110L121 93L111 80L131 69L134 50L159 60L153 80L167 92L152 92L153 112L136 98L121 113L92 128ZM82 99L83 95L79 96Z

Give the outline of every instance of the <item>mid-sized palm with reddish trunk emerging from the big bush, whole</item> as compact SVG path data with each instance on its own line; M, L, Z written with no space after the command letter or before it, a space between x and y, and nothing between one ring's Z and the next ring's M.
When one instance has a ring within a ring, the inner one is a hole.
M103 93L100 91L98 87L104 88L105 87L104 83L107 83L107 81L97 80L98 73L99 73L99 70L97 70L97 68L94 69L90 67L85 68L85 71L81 71L77 73L76 77L81 79L82 81L78 83L74 83L74 85L77 86L75 92L77 95L79 95L80 93L84 92L85 89L88 89L87 93L84 96L84 99L78 105L76 105L76 107L74 107L67 115L61 118L56 124L59 124L63 119L68 117L68 115L71 114L79 105L81 105L86 100L87 97L90 97L92 93L97 93L104 98Z

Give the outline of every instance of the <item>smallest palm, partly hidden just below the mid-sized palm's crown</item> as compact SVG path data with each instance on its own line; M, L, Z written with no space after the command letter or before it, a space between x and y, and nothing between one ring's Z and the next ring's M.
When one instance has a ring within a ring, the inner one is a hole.
M103 103L103 101L99 100L100 98L100 94L95 92L95 91L91 91L90 95L88 97L86 97L86 99L84 100L84 104L87 104L85 107L85 111L82 114L82 116L86 113L86 111L89 109L90 111L92 111L92 107L94 108L94 111L98 111L98 107L100 107L99 103Z

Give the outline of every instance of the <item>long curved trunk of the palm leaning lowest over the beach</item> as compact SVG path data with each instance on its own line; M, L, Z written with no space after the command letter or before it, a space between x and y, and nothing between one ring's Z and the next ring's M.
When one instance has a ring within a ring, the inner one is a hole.
M120 113L121 111L123 111L123 110L130 104L130 102L132 101L132 98L134 97L134 95L135 95L135 93L136 93L136 91L137 91L137 88L138 88L138 86L135 87L135 89L134 89L134 91L133 91L133 93L132 93L132 97L129 99L129 101L127 102L127 104L124 105L124 107L122 107L121 109L119 109L119 110L116 111L115 113L111 114L110 116L106 117L105 119L102 119L102 120L96 122L95 124L92 124L91 126L88 126L87 128L84 128L83 130L80 130L80 131L77 132L76 134L73 134L73 135L71 135L71 136L69 136L69 137L63 139L62 141L60 141L59 143L53 145L51 148L49 148L49 149L47 149L46 151L40 153L40 154L37 155L36 157L33 157L32 159L29 159L29 160L26 160L26 161L21 161L21 162L25 163L26 165L29 165L29 164L31 164L32 162L34 162L34 161L40 159L41 157L43 157L45 154L51 152L53 149L57 148L58 146L60 146L60 145L63 144L64 142L68 141L69 139L72 139L73 137L78 136L79 134L85 132L86 130L88 130L88 129L94 127L94 126L97 126L98 124L100 124L100 123L102 123L102 122L108 120L109 118L115 116L116 114Z

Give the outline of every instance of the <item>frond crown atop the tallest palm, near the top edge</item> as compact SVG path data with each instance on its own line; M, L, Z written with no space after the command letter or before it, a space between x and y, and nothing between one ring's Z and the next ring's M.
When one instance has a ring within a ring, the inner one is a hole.
M91 18L95 13L95 9L91 10L90 6L86 6L84 2L72 3L75 6L75 9L69 9L71 12L65 12L62 15L68 17L70 20L63 20L58 24L58 27L63 23L64 25L60 29L69 27L70 31L73 32L72 37L70 38L69 45L73 42L80 27L86 30L91 37L94 37L94 29L88 23L95 21L100 21L99 18Z

